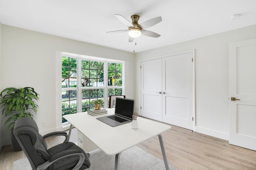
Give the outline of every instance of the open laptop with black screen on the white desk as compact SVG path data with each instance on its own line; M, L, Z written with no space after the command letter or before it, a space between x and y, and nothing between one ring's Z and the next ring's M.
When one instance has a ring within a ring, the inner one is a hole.
M102 121L112 127L132 122L134 112L134 100L127 98L116 98L115 114L104 117L98 117Z

